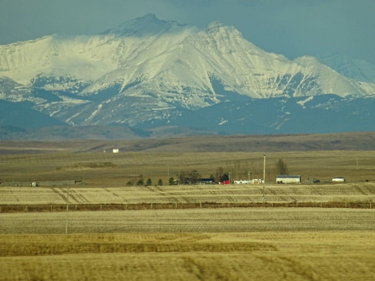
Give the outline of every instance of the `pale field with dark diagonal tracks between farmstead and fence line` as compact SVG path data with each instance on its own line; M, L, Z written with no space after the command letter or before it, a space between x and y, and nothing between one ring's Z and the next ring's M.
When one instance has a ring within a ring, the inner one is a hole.
M0 205L66 203L67 186L0 187ZM266 202L375 202L375 183L267 184ZM262 202L263 185L164 185L104 187L74 185L69 203L249 203Z

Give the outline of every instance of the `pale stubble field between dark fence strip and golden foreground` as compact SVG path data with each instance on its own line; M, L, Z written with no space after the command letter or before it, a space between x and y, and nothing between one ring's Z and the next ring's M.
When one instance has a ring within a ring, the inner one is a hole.
M65 233L65 212L2 213L0 234ZM69 212L69 233L375 230L375 209L202 208Z

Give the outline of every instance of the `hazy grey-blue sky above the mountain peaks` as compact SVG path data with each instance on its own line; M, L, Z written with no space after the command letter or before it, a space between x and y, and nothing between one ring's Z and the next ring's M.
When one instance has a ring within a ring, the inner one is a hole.
M289 58L339 52L375 64L375 0L1 0L0 45L99 33L149 12L198 27L221 21Z

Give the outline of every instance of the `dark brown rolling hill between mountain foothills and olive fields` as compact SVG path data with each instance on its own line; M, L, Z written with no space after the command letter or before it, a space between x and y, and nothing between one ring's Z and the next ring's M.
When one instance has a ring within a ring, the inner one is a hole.
M267 152L375 150L375 132L300 135L190 136L116 141L0 141L0 154L44 152Z

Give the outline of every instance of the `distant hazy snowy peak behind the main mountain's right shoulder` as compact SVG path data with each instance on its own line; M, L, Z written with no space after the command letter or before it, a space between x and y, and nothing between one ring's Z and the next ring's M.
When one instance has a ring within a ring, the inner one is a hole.
M317 57L321 63L338 73L356 81L375 84L375 66L365 60L357 60L341 54L326 54Z

